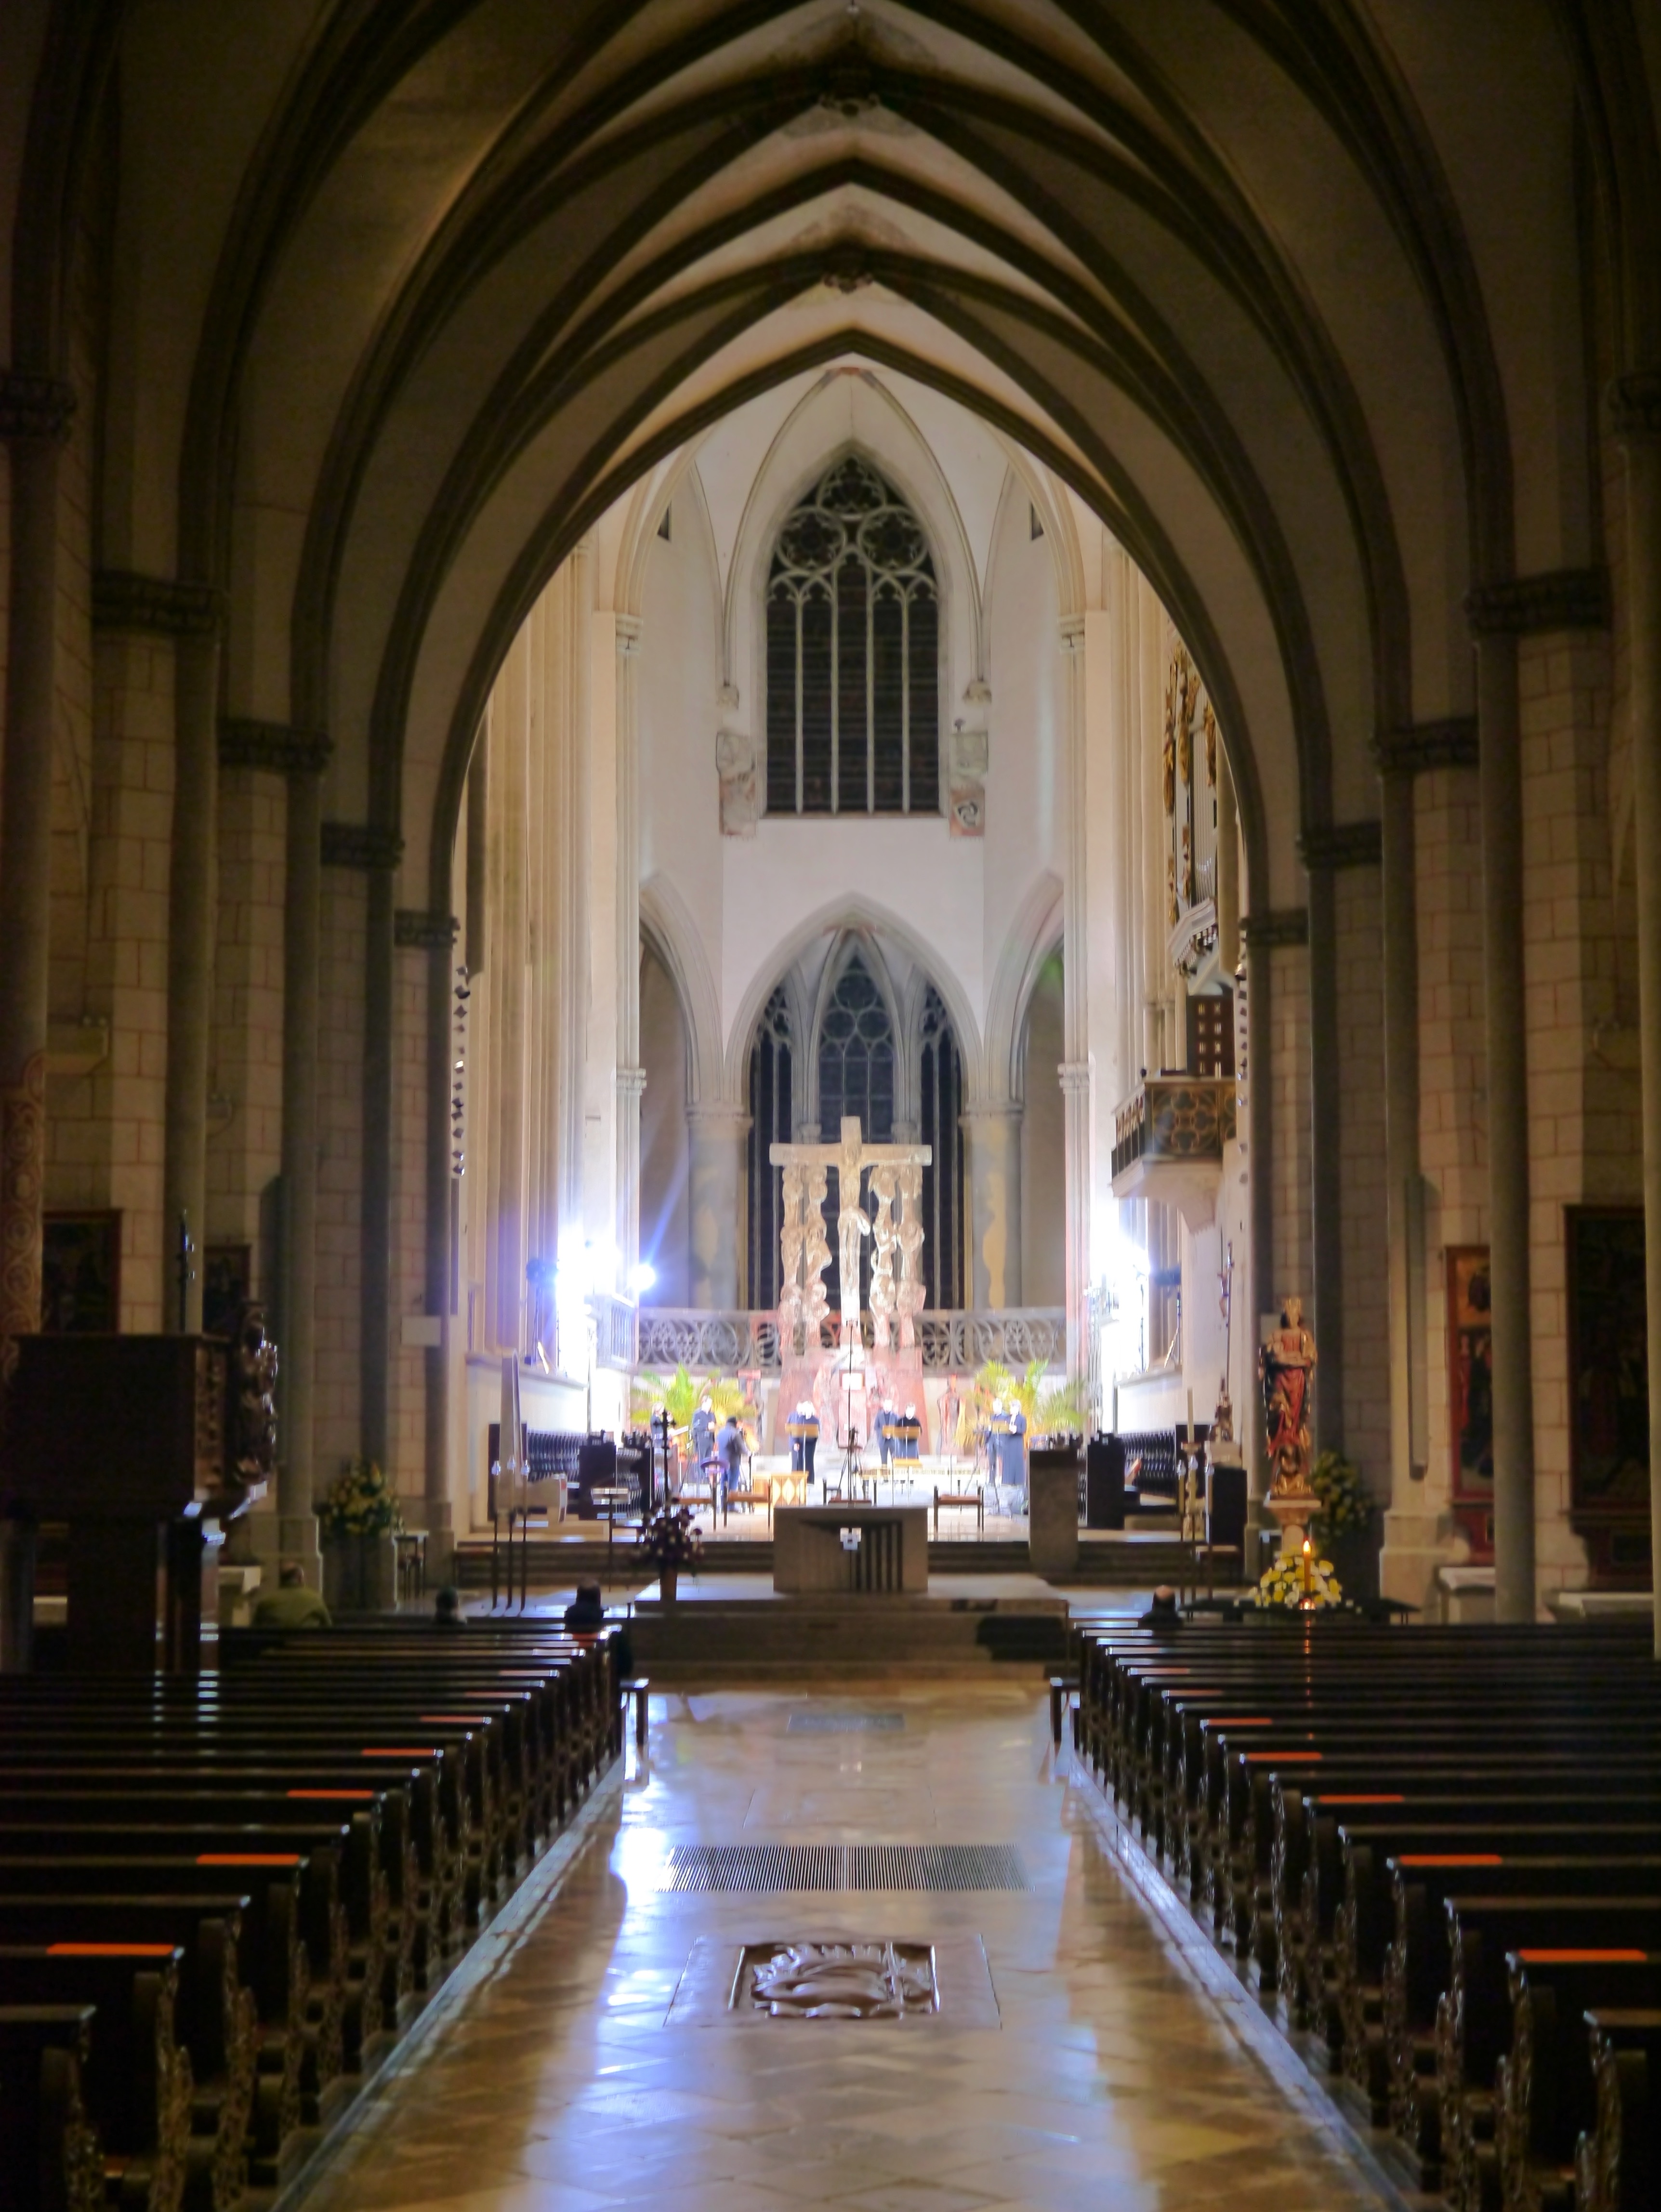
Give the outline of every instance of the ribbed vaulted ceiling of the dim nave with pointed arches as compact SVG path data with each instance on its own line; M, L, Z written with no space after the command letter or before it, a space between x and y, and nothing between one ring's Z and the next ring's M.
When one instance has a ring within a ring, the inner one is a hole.
M1599 557L1595 310L1654 347L1652 15L13 0L11 356L66 367L104 210L100 560L228 591L230 710L330 732L327 807L403 834L411 902L553 566L849 358L1130 549L1289 902L1298 832L1376 812L1371 737L1469 712L1464 593Z

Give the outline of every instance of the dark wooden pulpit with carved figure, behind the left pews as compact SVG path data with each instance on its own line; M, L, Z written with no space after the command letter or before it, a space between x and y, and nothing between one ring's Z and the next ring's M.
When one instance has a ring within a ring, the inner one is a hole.
M217 1336L20 1336L4 1502L69 1522L75 1670L195 1674L208 1531L265 1493L276 1352L257 1310Z

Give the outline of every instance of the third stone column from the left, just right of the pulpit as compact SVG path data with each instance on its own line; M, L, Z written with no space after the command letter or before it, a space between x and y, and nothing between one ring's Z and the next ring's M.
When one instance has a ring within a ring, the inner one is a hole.
M316 1029L323 933L323 768L330 741L294 732L283 852L283 1261L276 1546L323 1582L316 1542Z

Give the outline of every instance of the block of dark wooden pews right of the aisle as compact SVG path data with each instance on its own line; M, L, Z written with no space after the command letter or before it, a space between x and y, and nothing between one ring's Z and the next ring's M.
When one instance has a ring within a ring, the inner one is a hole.
M1409 2185L1661 2205L1648 1632L1086 1621L1075 1657L1075 1750Z

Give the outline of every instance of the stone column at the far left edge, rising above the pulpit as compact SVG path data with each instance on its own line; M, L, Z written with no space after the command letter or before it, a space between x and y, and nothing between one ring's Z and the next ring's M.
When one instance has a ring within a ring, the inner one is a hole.
M58 453L75 394L53 376L0 376L11 449L11 608L0 801L0 1371L40 1327L46 1179L51 752L58 692ZM2 1601L2 1599L0 1599Z

